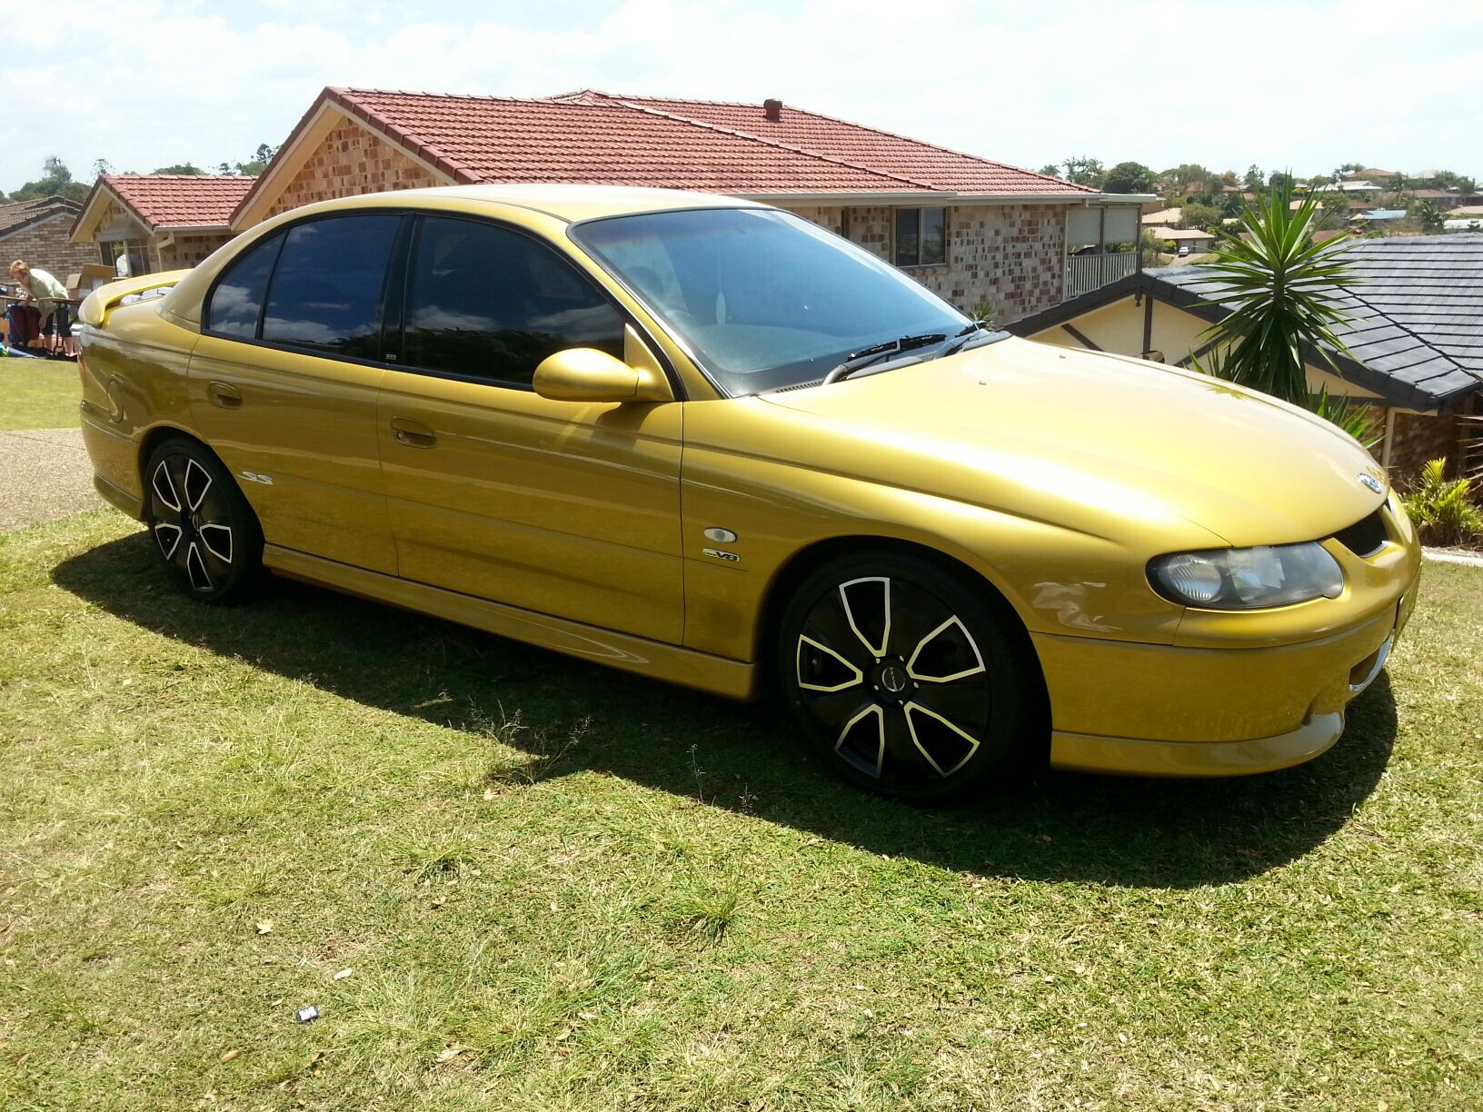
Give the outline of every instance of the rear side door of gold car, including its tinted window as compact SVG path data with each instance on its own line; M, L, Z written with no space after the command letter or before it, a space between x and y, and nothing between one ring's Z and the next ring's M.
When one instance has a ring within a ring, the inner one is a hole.
M212 288L191 417L270 544L396 574L377 390L386 276L403 216L313 218L249 248Z

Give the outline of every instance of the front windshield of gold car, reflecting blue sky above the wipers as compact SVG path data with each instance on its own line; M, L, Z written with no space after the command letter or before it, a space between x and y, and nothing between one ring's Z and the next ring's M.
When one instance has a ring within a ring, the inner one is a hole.
M650 212L571 234L730 394L817 381L862 348L968 323L896 267L789 212Z

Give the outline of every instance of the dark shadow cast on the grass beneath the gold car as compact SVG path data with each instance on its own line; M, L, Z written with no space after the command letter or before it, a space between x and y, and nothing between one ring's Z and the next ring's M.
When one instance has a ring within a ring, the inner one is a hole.
M601 771L977 875L1161 888L1255 876L1348 823L1396 737L1382 675L1351 706L1332 750L1283 772L1152 780L1046 771L971 805L921 811L835 781L771 704L673 688L286 580L267 581L248 605L202 606L166 581L142 532L65 560L53 580L144 629L366 706L470 732L491 716L518 716L512 744L531 756L528 781Z

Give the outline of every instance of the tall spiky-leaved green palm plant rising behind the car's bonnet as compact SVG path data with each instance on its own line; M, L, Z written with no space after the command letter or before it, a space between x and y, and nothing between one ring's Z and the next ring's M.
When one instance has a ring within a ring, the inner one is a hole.
M1317 194L1293 206L1292 190L1272 190L1241 206L1240 234L1219 230L1207 267L1221 288L1206 299L1231 310L1206 334L1226 347L1226 375L1302 406L1309 405L1305 354L1338 371L1332 353L1348 351L1333 332L1345 320L1336 286L1350 277L1341 258L1348 240L1314 243L1317 224Z

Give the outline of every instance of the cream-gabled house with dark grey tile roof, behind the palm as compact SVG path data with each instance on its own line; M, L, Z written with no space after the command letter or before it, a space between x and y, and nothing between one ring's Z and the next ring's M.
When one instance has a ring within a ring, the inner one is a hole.
M1483 460L1483 234L1357 239L1345 248L1354 280L1329 288L1348 319L1348 347L1307 353L1308 387L1384 412L1378 460L1400 479L1437 457ZM1010 331L1047 344L1189 366L1226 308L1206 267L1163 267L1023 317ZM1468 420L1468 418L1474 420Z

